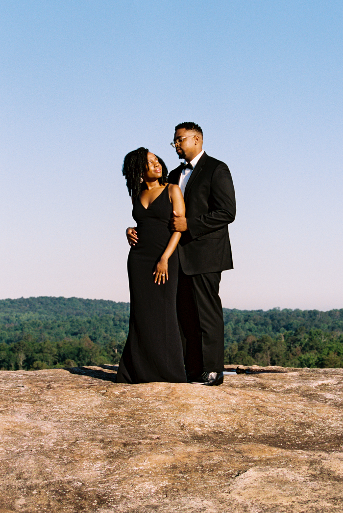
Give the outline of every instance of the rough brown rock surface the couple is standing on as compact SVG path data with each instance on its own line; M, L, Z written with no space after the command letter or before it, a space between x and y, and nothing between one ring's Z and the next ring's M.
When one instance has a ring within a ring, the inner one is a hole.
M343 369L220 387L114 369L0 372L1 513L343 510Z

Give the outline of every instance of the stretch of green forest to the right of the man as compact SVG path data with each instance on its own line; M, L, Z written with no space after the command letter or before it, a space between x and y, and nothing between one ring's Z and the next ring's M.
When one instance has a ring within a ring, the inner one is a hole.
M228 364L343 367L343 309L223 311Z

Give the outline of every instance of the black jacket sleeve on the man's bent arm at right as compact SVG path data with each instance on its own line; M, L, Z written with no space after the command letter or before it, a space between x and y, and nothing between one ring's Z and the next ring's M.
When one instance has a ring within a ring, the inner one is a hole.
M219 164L213 171L208 206L208 213L187 218L192 239L220 230L234 221L236 203L233 182L229 168L224 163Z

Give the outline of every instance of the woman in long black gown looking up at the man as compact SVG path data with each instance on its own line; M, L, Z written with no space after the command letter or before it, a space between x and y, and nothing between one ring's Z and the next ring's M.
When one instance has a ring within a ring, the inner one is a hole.
M146 148L125 156L123 175L137 227L127 233L130 324L117 383L186 383L176 314L181 233L168 229L173 210L185 213L182 193L178 185L166 184L163 161Z

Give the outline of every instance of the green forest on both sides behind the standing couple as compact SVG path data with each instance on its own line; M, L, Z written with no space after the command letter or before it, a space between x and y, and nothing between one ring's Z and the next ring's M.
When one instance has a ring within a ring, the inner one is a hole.
M343 367L343 309L223 309L225 363ZM0 300L0 369L116 364L130 303L78 298Z

